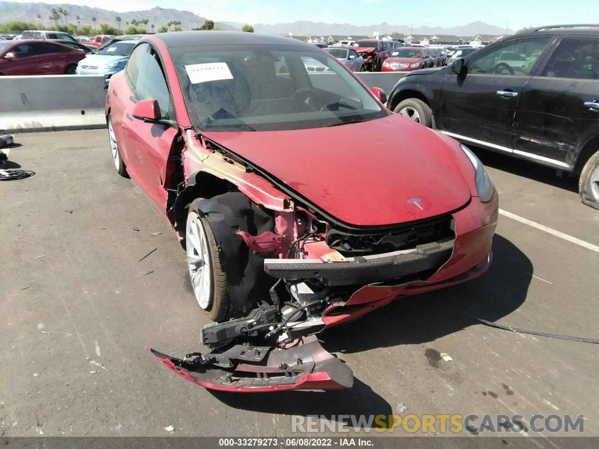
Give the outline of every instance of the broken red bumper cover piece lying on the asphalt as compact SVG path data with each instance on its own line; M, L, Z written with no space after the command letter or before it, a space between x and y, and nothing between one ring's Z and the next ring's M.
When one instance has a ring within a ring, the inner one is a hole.
M285 349L233 345L226 351L189 354L185 359L150 351L176 374L211 390L258 393L353 386L352 370L325 351L314 335Z

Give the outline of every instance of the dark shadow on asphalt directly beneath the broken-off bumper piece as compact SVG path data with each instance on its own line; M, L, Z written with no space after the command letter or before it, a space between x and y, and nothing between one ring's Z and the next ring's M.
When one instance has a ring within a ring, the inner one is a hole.
M392 407L385 399L358 378L349 390L322 392L279 392L231 394L208 390L226 405L243 410L285 415L391 415ZM291 417L289 418L291 424Z

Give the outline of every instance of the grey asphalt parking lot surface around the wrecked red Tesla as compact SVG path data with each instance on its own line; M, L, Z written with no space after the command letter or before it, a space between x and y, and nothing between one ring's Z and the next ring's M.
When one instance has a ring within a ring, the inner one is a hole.
M15 140L9 159L36 174L0 185L0 435L167 436L173 426L177 436L289 436L290 415L389 415L403 404L417 415L583 414L585 435L599 436L597 345L473 318L599 338L599 253L501 216L483 277L322 335L353 369L352 390L223 395L146 350L199 351L208 320L174 232L114 171L107 132ZM502 210L599 245L599 213L574 178L477 154Z

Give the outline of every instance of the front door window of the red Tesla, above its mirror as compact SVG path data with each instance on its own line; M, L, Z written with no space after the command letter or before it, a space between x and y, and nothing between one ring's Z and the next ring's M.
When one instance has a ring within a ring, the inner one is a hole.
M150 48L140 54L139 74L135 83L135 98L158 100L162 116L168 117L171 110L171 94L164 77L158 55Z

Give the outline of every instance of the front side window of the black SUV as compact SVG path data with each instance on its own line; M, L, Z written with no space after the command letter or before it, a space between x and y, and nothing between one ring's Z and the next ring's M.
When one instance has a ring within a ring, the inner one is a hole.
M538 37L507 42L468 61L470 74L530 76L537 59L553 37Z

